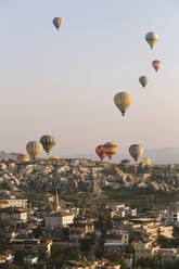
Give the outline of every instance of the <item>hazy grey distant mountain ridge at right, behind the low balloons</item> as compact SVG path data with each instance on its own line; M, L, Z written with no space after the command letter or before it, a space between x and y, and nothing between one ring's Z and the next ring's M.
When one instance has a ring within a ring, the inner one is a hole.
M69 158L89 158L89 159L99 159L95 153L79 153L75 155L68 155L64 157ZM144 151L143 157L152 158L153 164L179 164L179 148L163 148L163 149L151 149ZM130 155L127 153L117 154L113 161L116 163L120 163L122 159L129 158ZM105 158L107 161L107 158Z

